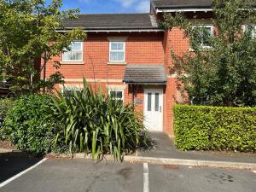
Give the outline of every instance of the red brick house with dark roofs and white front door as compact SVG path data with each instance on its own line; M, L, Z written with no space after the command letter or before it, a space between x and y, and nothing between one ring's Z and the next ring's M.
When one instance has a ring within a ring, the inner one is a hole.
M177 88L177 77L170 74L170 49L177 54L189 51L183 31L159 27L163 13L184 12L191 20L201 20L213 33L212 0L151 1L150 14L79 15L79 20L64 20L66 32L82 26L87 32L84 42L74 42L71 51L52 61L61 61L58 69L65 77L65 87L83 89L83 77L96 89L125 103L134 102L145 116L149 131L165 131L171 137L172 107L183 102ZM203 42L202 42L203 44ZM46 77L55 72L49 64Z

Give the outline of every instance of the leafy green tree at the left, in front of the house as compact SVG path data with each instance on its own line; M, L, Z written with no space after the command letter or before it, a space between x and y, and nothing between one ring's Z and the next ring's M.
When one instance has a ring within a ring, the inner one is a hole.
M64 27L62 20L76 19L79 13L79 9L61 11L61 5L61 0L0 0L0 80L7 80L16 95L50 90L61 82L58 72L45 79L48 61L69 49L73 40L86 38L81 28L56 32ZM58 61L55 67L60 67Z

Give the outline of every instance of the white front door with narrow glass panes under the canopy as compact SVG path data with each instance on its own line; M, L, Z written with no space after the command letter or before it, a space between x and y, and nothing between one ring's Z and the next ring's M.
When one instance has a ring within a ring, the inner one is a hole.
M148 131L163 131L163 90L144 90L144 125Z

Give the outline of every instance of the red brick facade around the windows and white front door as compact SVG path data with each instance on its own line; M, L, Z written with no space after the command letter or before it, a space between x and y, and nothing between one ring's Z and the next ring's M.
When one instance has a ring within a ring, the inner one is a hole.
M158 16L159 17L159 16ZM125 64L110 64L109 40L111 37L125 37ZM170 51L177 54L189 50L188 39L183 37L183 31L178 28L166 32L88 32L88 38L83 44L83 63L63 63L58 69L65 77L66 84L82 84L83 77L96 89L101 87L108 92L108 87L117 86L124 90L124 101L132 102L132 89L123 83L126 65L162 65L166 69L166 85L150 85L150 88L163 88L163 131L173 137L172 107L176 102L182 102L177 89L175 75L169 75L169 67L172 67ZM55 73L54 61L62 61L61 55L52 58L46 68L46 77ZM61 89L61 85L56 87ZM146 85L137 87L136 99L140 99L138 110L143 112L143 97Z

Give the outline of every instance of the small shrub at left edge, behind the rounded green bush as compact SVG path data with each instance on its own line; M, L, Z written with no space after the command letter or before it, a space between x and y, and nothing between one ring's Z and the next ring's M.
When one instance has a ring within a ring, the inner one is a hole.
M6 113L12 108L14 101L12 99L0 99L0 139L4 138L2 127Z

